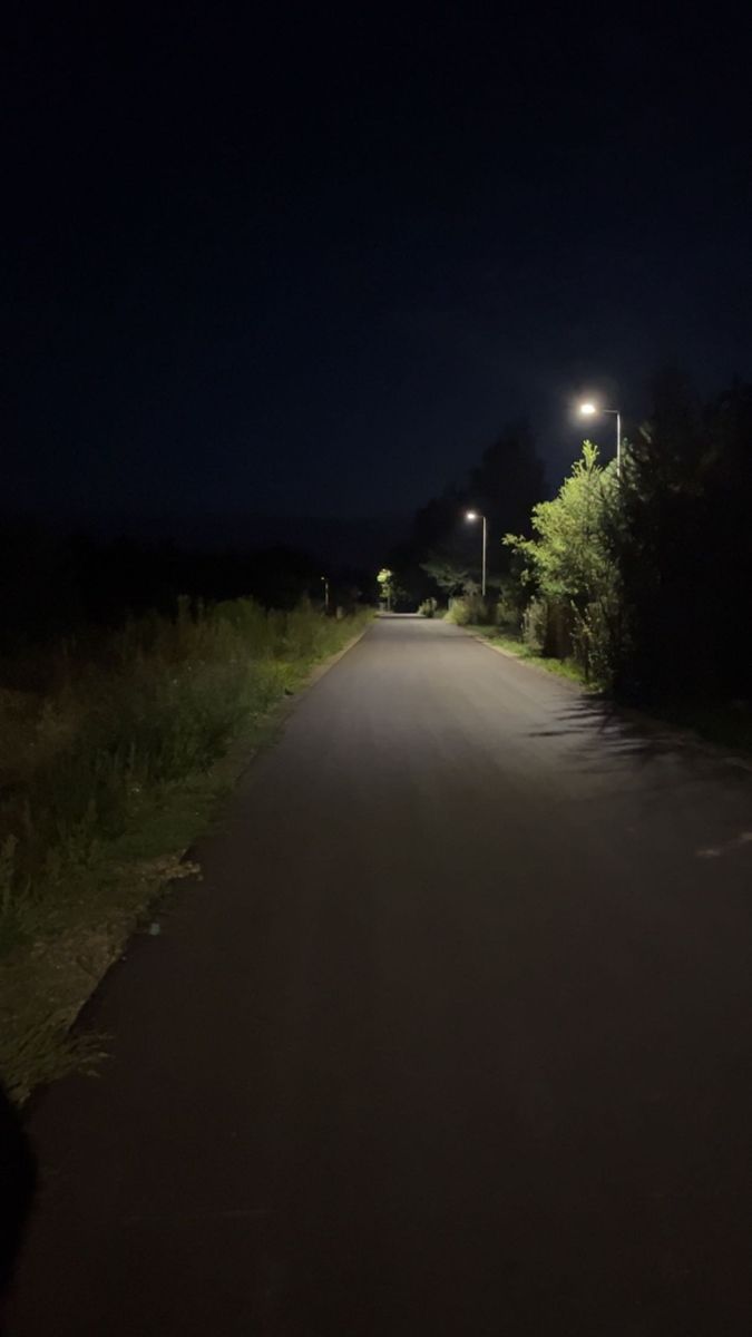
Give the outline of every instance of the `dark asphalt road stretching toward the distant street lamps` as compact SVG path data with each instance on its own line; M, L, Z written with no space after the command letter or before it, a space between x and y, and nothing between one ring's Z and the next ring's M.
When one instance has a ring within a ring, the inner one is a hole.
M381 619L201 858L35 1111L15 1337L748 1337L749 771Z

